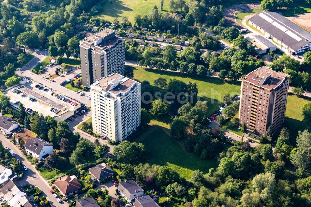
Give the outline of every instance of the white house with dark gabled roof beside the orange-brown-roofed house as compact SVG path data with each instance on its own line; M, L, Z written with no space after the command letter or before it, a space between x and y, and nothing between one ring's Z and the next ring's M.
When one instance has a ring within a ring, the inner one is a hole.
M44 155L51 154L53 152L53 145L39 137L29 137L25 147L26 153L32 155L39 160L45 160Z

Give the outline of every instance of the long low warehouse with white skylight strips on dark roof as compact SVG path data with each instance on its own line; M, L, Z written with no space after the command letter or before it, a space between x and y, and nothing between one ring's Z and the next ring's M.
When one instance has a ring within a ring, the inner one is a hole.
M248 24L280 44L283 51L298 54L311 50L311 34L279 13L261 11L250 17Z

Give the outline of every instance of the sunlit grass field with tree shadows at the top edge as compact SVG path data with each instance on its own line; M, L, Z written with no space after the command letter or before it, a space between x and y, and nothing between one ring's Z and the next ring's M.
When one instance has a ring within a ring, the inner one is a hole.
M134 23L134 16L148 15L152 8L157 6L160 9L160 0L114 0L106 1L102 7L102 12L97 16L104 18L107 21L112 21L114 18L121 19L122 16L127 16L128 20ZM168 12L169 1L164 1L163 10Z

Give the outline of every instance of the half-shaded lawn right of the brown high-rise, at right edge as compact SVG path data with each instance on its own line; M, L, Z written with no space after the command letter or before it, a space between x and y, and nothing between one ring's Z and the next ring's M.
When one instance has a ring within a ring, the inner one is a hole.
M288 95L284 127L287 127L290 132L292 145L296 145L298 130L303 131L306 129L306 124L302 121L302 107L308 101L310 101L310 99L299 98L296 95Z

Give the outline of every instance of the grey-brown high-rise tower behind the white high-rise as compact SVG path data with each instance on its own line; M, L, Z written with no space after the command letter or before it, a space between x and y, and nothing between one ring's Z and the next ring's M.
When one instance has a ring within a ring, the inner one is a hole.
M80 41L82 85L90 87L101 77L125 73L124 40L105 28Z

